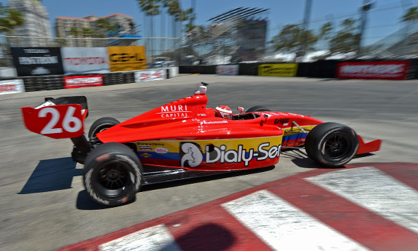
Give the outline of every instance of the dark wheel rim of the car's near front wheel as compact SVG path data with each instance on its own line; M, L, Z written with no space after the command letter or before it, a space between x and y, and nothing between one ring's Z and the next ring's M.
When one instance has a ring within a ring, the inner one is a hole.
M349 140L349 135L334 132L325 139L322 154L328 160L339 162L351 156L351 149L352 143Z

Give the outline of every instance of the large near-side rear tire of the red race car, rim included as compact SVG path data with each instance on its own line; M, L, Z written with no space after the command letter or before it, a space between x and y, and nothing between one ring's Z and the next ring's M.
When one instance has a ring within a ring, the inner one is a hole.
M143 166L130 147L114 142L98 145L84 163L84 188L93 202L119 206L135 200Z

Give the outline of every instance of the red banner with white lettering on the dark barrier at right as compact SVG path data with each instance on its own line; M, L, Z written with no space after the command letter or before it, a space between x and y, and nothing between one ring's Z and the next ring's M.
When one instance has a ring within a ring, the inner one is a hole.
M337 77L404 80L410 61L341 62Z

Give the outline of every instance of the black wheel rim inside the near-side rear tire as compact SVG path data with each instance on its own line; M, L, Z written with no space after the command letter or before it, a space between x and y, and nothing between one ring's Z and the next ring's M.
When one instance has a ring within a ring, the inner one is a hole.
M119 197L132 184L130 172L125 163L110 162L98 170L97 188L102 195L112 198Z

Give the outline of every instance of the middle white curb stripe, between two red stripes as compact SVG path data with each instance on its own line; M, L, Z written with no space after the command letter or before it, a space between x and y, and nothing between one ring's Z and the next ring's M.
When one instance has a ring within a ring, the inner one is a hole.
M266 190L222 206L275 250L367 250Z

